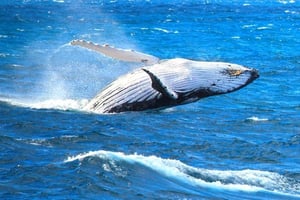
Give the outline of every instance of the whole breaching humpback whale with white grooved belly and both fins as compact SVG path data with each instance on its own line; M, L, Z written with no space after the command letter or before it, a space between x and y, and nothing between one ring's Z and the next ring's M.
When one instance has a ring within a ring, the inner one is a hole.
M160 60L134 50L84 40L73 40L71 45L142 64L117 78L89 101L85 109L97 113L143 111L187 104L236 91L259 77L257 70L233 63L184 58Z

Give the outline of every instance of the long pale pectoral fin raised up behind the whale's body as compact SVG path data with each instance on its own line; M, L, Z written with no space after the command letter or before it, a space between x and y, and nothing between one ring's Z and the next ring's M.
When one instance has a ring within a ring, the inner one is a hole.
M130 49L118 49L118 48L111 47L107 44L99 45L85 40L72 40L70 44L78 45L96 51L98 53L101 53L105 56L126 61L126 62L138 62L138 63L143 63L145 65L153 65L159 62L159 58L155 56L151 56Z

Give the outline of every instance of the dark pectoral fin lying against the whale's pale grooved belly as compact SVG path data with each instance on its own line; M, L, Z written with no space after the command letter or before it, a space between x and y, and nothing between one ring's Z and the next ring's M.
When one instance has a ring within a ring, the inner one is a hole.
M150 72L145 68L143 68L142 70L144 70L150 76L153 89L155 89L156 91L160 92L163 96L168 97L170 99L176 100L178 98L178 94L170 87L168 87L166 84L164 84L155 74L153 74L152 72Z

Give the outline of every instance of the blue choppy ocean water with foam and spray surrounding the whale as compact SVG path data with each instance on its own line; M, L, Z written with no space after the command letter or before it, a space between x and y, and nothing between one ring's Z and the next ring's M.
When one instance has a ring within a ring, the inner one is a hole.
M256 68L174 108L82 108L139 67L73 39ZM300 199L300 2L0 2L1 199Z

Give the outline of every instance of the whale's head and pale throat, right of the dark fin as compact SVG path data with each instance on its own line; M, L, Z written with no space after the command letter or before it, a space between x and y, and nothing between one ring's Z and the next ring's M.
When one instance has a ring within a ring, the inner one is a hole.
M236 91L259 77L255 69L226 62L174 59L168 65L172 66L170 73L177 76L169 76L166 82L178 93L189 96L191 101Z

